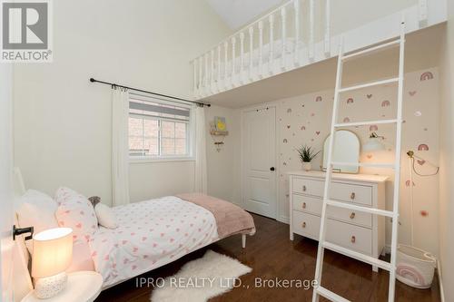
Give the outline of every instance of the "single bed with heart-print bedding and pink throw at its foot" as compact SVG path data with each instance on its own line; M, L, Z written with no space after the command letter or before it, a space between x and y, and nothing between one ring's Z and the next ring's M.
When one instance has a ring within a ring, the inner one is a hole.
M244 248L245 236L255 233L249 213L228 201L197 193L144 200L112 210L116 229L98 226L90 236L74 237L70 269L94 269L103 276L104 288L234 234L242 234ZM37 231L40 228L44 227Z

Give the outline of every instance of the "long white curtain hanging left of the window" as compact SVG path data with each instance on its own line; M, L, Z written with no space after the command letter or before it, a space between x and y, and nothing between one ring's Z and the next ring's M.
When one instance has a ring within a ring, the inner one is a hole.
M112 203L129 203L129 97L119 87L112 89Z

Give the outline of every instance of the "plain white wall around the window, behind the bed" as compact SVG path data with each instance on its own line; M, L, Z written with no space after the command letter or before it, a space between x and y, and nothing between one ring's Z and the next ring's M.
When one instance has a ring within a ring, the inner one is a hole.
M88 79L190 97L190 59L229 31L203 0L55 1L54 63L15 68L25 186L54 194L66 185L109 204L110 88ZM192 175L192 162L133 164L131 198L192 190Z

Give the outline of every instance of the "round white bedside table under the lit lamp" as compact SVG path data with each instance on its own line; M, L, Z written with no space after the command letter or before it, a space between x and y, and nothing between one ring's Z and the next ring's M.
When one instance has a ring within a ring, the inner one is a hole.
M55 297L39 299L31 291L22 302L92 302L101 292L103 277L94 271L78 271L68 274L68 283Z

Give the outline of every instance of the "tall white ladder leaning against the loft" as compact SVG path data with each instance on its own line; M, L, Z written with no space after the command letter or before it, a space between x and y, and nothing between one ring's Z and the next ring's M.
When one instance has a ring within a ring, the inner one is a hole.
M356 86L351 86L347 88L341 88L342 83L342 65L345 61L350 60L354 57L378 52L383 49L387 49L393 46L400 46L400 63L399 63L399 76L396 78L391 78L389 80L377 81L373 83L365 83ZM319 297L326 297L331 301L349 301L344 297L341 297L330 290L321 287L321 272L323 267L323 254L325 248L331 249L335 252L341 253L350 258L356 258L360 261L369 263L372 266L378 268L386 269L390 271L390 289L388 301L394 301L394 290L396 284L396 249L397 249L397 235L398 235L398 225L399 225L399 182L400 182L400 149L401 149L401 132L402 132L402 99L403 99L403 63L404 63L404 46L405 46L405 22L403 21L400 24L400 38L396 39L390 43L380 44L378 46L370 47L369 49L354 53L343 55L343 44L341 44L338 58L338 68L336 75L336 89L334 92L334 104L332 108L332 120L331 120L331 136L330 136L330 148L328 151L328 163L327 163L327 172L325 179L325 187L323 193L323 206L321 209L321 229L320 229L320 238L319 238L319 248L317 253L317 266L315 268L315 280L317 282L317 287L314 287L312 302L317 302ZM352 90L357 90L361 88L366 88L370 86L376 86L386 83L399 83L399 94L398 94L398 112L397 118L391 120L379 120L379 121L370 121L370 122L345 122L338 123L338 105L340 100L340 94ZM332 150L335 140L335 132L339 128L352 127L352 126L366 126L374 124L384 124L384 123L395 123L396 124L396 155L394 163L346 163L346 162L333 162L332 161ZM358 167L379 167L379 168L393 168L395 175L395 185L394 185L394 194L393 194L393 209L384 210L384 209L374 209L357 206L351 203L343 203L340 201L331 200L330 198L330 189L331 189L331 178L332 178L332 167L334 165L350 165ZM326 234L326 207L327 205L331 207L338 207L343 209L353 209L360 212L370 213L373 215L380 215L385 217L390 217L392 219L392 239L391 239L391 258L390 262L386 262L377 258L364 255L357 251L353 251L349 248L343 248L339 245L327 242L325 240Z

